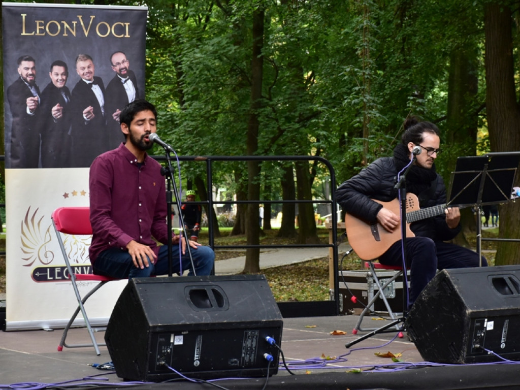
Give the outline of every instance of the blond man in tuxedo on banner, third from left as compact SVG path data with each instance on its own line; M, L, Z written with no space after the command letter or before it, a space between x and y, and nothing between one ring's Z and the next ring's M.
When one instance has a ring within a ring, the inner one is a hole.
M76 57L81 77L72 89L72 166L88 167L97 155L108 150L105 84L95 75L92 57Z

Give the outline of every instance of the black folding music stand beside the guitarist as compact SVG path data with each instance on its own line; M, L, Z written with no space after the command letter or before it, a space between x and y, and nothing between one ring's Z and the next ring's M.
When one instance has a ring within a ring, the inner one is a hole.
M483 205L501 204L511 200L519 162L520 152L459 157L455 171L451 173L447 205L472 206L477 210L476 245L480 266L482 266L481 208Z

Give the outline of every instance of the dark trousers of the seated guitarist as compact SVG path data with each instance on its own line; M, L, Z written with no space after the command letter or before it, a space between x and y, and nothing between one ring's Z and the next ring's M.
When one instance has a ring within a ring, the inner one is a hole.
M408 254L407 265L410 268L411 307L421 291L435 276L437 269L478 267L478 253L462 246L444 241L433 241L426 237L410 237L406 239ZM380 258L385 265L402 265L401 241L395 242ZM487 260L482 256L482 266L487 267Z

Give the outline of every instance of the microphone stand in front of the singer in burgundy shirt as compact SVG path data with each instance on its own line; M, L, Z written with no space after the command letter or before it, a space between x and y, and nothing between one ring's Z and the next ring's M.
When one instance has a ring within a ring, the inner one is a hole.
M162 145L161 145L162 146ZM175 184L175 180L174 180L174 177L173 177L173 168L172 168L172 161L170 159L170 151L171 151L171 148L170 147L165 147L163 146L164 148L164 154L165 154L165 157L166 157L166 164L167 166L163 166L161 167L161 175L165 176L166 177L166 182L167 182L167 186L166 186L166 207L167 207L167 218L166 218L166 228L168 229L168 232L167 232L167 239L168 239L168 276L169 277L172 277L173 276L173 253L172 253L172 239L173 239L173 234L172 234L172 205L173 205L173 201L172 201L172 186L173 186L173 190L176 194L176 197L175 197L175 202L176 202L176 205L177 205L177 211L178 211L178 215L179 215L179 221L180 221L180 229L184 232L184 238L186 239L186 248L188 250L188 254L190 256L190 263L191 263L191 267L193 269L193 275L196 275L195 274L195 266L193 264L193 257L191 256L191 248L190 248L190 245L188 243L188 234L186 232L186 225L184 225L184 218L183 218L183 213L180 212L180 197L178 196L178 191L177 191L177 185ZM180 237L179 237L179 270L182 270L182 239L183 239L183 233L180 233Z

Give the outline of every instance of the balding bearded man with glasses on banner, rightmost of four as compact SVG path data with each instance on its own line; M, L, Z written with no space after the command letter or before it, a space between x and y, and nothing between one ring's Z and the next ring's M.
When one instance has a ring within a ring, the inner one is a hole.
M110 66L115 72L112 80L107 85L107 132L110 149L116 148L124 138L121 136L119 115L123 107L128 103L141 99L135 73L130 70L130 63L123 51L116 51L110 56Z

